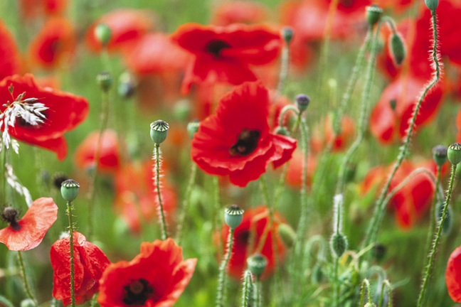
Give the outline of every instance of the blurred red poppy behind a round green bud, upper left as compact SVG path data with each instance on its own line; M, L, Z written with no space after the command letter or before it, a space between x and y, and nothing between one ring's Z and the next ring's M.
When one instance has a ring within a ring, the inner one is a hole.
M100 41L95 36L95 28L100 23L105 23L112 31L112 37L107 50L117 51L124 45L130 45L137 38L151 31L154 24L154 14L147 10L117 9L97 19L88 28L85 41L92 51L99 52L102 48Z

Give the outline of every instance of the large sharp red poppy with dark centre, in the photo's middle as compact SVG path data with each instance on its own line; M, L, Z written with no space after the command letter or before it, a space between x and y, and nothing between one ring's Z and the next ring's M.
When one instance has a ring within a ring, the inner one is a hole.
M290 160L296 140L271 134L267 115L269 95L261 82L245 82L224 95L216 115L204 119L192 140L191 157L211 175L229 175L245 187L260 178L270 162Z

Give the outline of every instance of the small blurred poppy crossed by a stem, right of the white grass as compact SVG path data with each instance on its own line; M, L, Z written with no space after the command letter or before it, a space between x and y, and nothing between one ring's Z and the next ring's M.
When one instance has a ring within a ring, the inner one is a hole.
M99 139L100 131L92 131L75 149L74 158L78 168L95 167ZM115 173L118 168L120 168L120 152L117 133L111 129L106 129L102 134L97 170L102 173Z

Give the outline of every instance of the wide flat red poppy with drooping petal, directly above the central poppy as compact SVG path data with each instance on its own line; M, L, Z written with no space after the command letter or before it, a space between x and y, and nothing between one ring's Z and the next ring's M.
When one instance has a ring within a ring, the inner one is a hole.
M171 35L182 48L195 55L184 76L181 91L187 94L192 83L223 82L240 85L257 80L250 65L275 60L282 47L280 34L265 26L201 26L186 23Z

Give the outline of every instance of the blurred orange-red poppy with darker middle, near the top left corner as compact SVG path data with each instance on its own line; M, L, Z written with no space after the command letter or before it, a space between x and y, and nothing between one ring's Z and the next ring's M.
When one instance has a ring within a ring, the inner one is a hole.
M72 23L65 18L51 18L33 38L28 55L41 68L56 68L73 58L76 47Z

